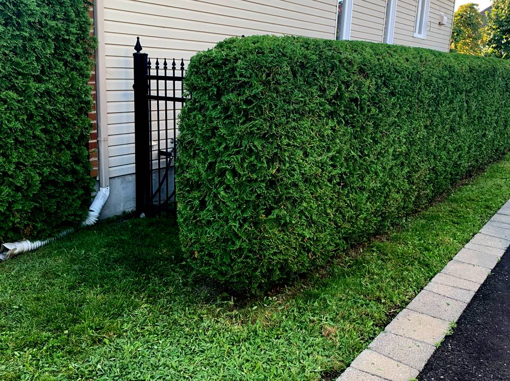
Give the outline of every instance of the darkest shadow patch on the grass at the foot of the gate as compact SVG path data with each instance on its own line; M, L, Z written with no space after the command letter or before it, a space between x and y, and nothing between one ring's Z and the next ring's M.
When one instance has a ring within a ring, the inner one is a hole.
M77 281L87 287L117 287L120 282L148 299L172 289L175 297L194 297L197 302L215 302L226 292L190 266L181 250L179 228L172 219L105 222L84 235L90 243L85 251L79 250L84 241L81 235L74 236L64 248L78 249L68 250L68 265Z

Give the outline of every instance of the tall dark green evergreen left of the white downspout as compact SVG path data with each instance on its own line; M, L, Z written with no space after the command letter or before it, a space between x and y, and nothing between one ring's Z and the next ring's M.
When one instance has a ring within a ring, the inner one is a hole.
M88 3L0 2L0 242L81 220L90 199Z

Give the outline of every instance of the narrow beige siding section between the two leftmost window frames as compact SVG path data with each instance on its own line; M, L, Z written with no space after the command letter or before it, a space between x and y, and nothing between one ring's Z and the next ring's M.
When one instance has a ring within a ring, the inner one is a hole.
M354 0L351 40L381 42L385 12L385 0Z

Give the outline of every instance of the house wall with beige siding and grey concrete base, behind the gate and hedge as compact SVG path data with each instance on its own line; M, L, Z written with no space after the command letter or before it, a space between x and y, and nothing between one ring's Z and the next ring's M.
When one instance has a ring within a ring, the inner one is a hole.
M335 38L337 0L101 0L101 105L106 98L110 198L103 217L135 206L133 52L140 36L143 52L155 58L184 58L231 36L252 34ZM447 51L453 0L431 0L425 40L413 37L417 0L398 0L394 43ZM382 41L386 0L353 0L351 39ZM439 26L439 13L448 17ZM103 76L103 74L101 74ZM101 107L104 110L105 107ZM91 116L93 118L93 116ZM101 121L101 123L104 123ZM101 124L101 131L104 131ZM95 136L91 135L91 144ZM93 164L97 153L91 150ZM103 160L103 159L101 159ZM94 174L96 171L93 172Z

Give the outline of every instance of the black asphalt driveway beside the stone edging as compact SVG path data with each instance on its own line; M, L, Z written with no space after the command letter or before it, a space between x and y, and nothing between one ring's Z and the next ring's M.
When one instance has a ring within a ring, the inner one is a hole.
M419 381L510 380L510 249L429 359Z

